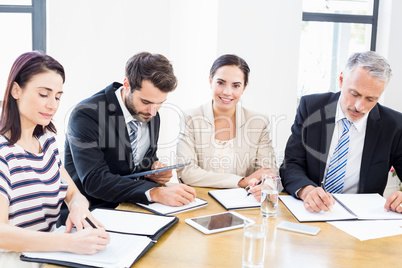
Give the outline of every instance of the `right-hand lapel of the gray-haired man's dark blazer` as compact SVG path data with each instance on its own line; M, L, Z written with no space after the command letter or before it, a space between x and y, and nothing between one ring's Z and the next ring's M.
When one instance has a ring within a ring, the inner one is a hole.
M368 170L373 158L375 145L380 135L382 124L378 104L371 109L367 118L366 137L364 138L362 162L360 166L359 193L362 193L369 176Z

